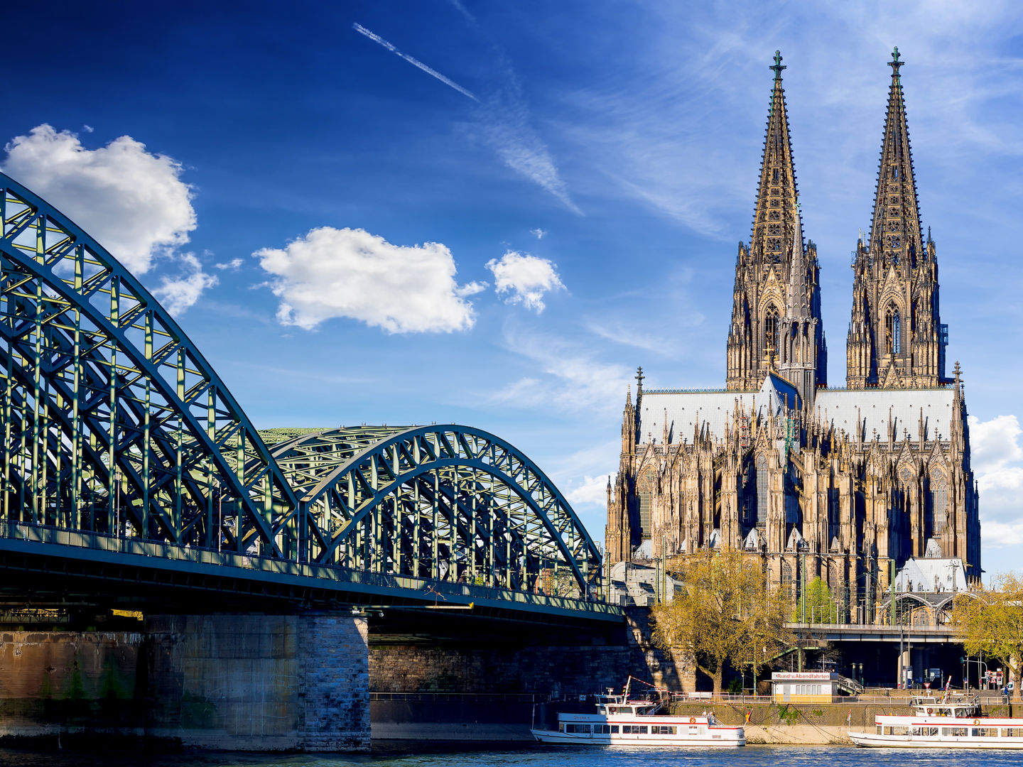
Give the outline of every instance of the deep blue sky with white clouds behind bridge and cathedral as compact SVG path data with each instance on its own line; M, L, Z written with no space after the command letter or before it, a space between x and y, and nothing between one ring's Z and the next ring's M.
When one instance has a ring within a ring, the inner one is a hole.
M844 381L898 45L983 563L1014 566L1023 6L46 8L5 11L0 167L175 310L258 426L486 428L595 538L635 366L651 387L723 384L776 48Z

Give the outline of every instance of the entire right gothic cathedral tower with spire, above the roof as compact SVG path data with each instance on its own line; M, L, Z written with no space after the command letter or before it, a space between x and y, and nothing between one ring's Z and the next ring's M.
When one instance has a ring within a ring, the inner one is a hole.
M923 238L898 48L881 145L874 220L856 243L846 386L925 388L945 377L947 332L938 314L938 262Z

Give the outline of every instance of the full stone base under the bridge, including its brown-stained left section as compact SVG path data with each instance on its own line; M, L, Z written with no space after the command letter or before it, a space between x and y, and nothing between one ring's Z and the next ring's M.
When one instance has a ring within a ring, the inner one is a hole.
M4 632L0 641L0 736L369 748L364 619L154 616L139 632Z

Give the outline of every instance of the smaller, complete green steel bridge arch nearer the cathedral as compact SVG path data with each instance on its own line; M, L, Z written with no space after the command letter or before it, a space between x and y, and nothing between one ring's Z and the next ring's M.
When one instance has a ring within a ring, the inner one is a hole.
M527 456L472 426L336 428L273 449L319 527L310 561L584 595L601 555Z

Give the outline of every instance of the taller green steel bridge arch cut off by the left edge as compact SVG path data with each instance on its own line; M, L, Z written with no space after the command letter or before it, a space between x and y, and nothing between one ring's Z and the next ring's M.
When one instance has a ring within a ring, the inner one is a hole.
M0 515L297 555L295 494L176 322L0 175Z

